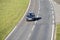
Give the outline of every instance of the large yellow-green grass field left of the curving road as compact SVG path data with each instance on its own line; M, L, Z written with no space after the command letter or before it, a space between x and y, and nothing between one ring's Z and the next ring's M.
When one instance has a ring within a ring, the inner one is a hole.
M0 0L0 40L11 32L23 16L29 0Z

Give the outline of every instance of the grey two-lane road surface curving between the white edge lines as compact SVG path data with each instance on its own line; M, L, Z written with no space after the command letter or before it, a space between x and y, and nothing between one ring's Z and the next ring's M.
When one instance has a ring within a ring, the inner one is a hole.
M25 16L6 40L51 40L52 11L49 0L31 0L28 12L34 12L42 19L27 22Z

